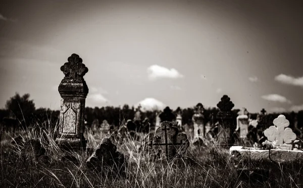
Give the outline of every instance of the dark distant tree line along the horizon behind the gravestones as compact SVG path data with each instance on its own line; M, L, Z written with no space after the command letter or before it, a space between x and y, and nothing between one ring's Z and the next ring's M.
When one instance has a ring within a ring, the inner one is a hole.
M15 96L11 97L5 106L5 109L0 110L0 122L2 126L14 126L10 125L10 120L15 119L16 125L18 127L43 127L51 126L55 127L59 121L60 111L53 111L49 108L35 108L33 100L30 100L29 93L20 96L16 93ZM102 122L107 120L109 124L119 127L121 124L125 124L128 119L133 120L135 116L135 108L127 104L122 107L106 106L106 107L86 107L85 108L85 121L87 122L87 127L89 128L94 120ZM236 122L237 114L240 110L233 109L233 118ZM218 108L207 108L204 109L203 115L205 117L205 124L216 123L216 115L219 112ZM156 116L159 111L146 111L141 112L141 119L148 119L150 126L155 126ZM175 110L172 109L172 113L176 114ZM192 115L195 113L194 106L189 108L181 109L182 124L192 125ZM297 122L297 128L303 127L303 111L282 113L289 120L291 128L294 127L295 122ZM251 119L257 118L257 113L250 114ZM279 114L272 113L264 116L268 126L272 125L273 120L278 117ZM267 128L264 127L264 128Z

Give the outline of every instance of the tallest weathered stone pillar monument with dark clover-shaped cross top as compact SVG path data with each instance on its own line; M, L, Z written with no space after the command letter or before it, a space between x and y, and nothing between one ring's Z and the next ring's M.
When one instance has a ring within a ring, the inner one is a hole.
M85 99L88 93L83 76L88 68L77 54L72 54L61 67L65 77L59 85L61 96L60 122L56 142L64 148L86 147L83 136Z

